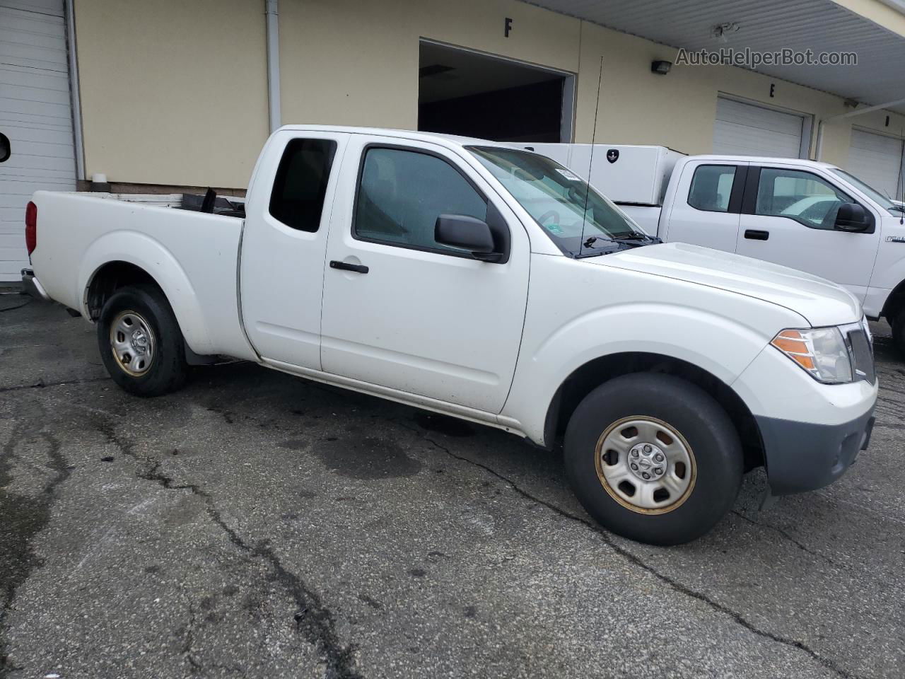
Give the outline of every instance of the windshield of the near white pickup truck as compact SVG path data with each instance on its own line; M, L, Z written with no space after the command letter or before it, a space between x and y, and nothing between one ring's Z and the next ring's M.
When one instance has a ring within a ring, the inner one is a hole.
M469 150L564 253L589 256L658 242L584 179L550 158L512 148Z

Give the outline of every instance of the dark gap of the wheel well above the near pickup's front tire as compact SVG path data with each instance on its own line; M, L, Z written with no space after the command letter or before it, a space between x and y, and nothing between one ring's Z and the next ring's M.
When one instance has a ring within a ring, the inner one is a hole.
M591 391L609 379L635 372L673 375L704 389L726 410L735 426L745 454L745 469L754 469L764 464L764 445L757 421L729 385L687 361L643 352L611 354L594 359L569 375L557 389L547 412L544 427L547 445L552 445L566 431L572 413Z

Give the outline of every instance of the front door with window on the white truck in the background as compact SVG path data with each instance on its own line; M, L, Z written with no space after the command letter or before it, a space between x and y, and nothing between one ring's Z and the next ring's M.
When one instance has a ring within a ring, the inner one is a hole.
M880 228L878 220L872 234L835 230L839 206L852 200L827 177L762 167L756 195L745 196L736 252L841 283L864 301Z

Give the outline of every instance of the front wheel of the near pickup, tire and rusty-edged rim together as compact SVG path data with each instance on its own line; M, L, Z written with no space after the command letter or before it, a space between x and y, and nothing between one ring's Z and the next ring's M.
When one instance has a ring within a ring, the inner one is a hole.
M566 430L569 482L591 516L631 540L695 540L732 507L738 434L700 387L636 373L595 388Z

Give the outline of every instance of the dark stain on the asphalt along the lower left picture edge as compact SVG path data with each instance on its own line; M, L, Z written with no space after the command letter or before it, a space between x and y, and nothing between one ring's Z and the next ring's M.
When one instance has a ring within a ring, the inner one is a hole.
M39 421L41 418L39 418ZM36 496L8 493L6 486L12 482L10 461L16 458L15 446L25 435L43 438L47 444L48 462L46 468L53 473L41 493ZM16 425L10 432L9 440L0 456L0 516L4 518L5 531L0 533L0 679L5 679L13 671L22 668L14 665L8 655L5 640L6 617L13 607L13 599L18 588L27 580L34 569L43 565L43 559L32 549L35 535L43 531L50 522L51 508L62 483L70 477L72 468L60 452L60 442L43 432L26 432L25 427Z

